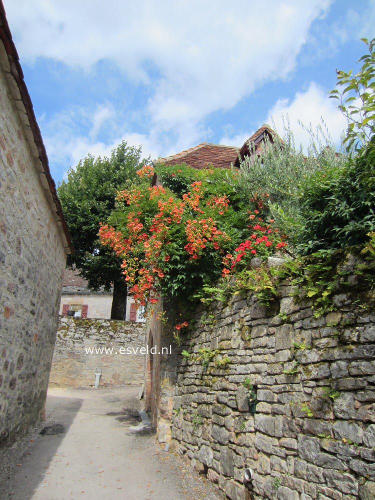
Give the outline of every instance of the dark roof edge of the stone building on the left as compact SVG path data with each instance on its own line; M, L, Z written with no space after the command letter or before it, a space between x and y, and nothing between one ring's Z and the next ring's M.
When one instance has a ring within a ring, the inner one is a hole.
M1 60L2 64L6 65L6 72L8 73L8 82L11 89L11 94L16 101L16 107L19 109L21 116L21 121L25 125L25 129L28 127L31 131L31 139L29 139L29 144L31 150L35 157L40 161L40 180L41 184L46 191L48 191L49 197L51 199L50 206L55 213L57 223L60 224L63 235L66 238L66 251L70 253L73 250L71 243L71 237L69 230L67 228L60 201L57 197L56 186L54 180L49 171L47 153L43 144L43 139L41 138L39 126L36 122L35 113L32 107L32 102L23 79L23 72L21 65L19 63L19 57L17 50L15 48L11 32L9 29L8 22L6 20L6 14L2 1L0 0L0 40L3 43L6 56ZM23 107L22 107L23 106ZM22 112L23 110L23 112ZM26 132L27 137L29 135Z

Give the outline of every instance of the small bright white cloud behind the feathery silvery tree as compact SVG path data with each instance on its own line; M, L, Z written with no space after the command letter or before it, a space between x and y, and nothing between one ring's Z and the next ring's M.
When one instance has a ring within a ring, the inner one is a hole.
M304 126L311 125L312 129L315 129L323 118L333 142L339 145L340 135L346 129L347 124L336 105L337 101L329 99L320 86L311 82L307 90L297 92L293 100L278 99L268 111L265 122L271 124L273 121L277 132L282 136L283 117L288 116L296 147L302 144L303 149L306 150L309 144L309 134L298 124L298 120Z

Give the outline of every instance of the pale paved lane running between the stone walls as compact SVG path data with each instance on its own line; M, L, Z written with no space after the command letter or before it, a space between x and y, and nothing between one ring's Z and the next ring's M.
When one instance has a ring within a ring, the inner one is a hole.
M38 428L5 451L1 500L222 498L154 434L132 433L137 393L132 387L49 389L40 428L61 424L64 431L40 435Z

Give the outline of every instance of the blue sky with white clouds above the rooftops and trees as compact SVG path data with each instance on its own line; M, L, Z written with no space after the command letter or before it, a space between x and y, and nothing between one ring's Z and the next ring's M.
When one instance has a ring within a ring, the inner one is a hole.
M335 69L375 36L375 0L3 0L56 182L122 139L145 156L202 141L241 146L273 118L282 135L322 116Z

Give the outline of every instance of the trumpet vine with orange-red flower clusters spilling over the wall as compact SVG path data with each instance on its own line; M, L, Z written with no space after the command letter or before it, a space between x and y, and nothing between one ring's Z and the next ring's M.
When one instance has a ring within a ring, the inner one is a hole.
M155 302L159 293L193 298L241 260L246 265L248 256L266 258L284 246L262 217L266 203L237 195L234 172L186 165L156 171L163 186L150 185L153 167L138 170L143 182L118 193L111 225L99 231L102 244L123 259L138 304Z

